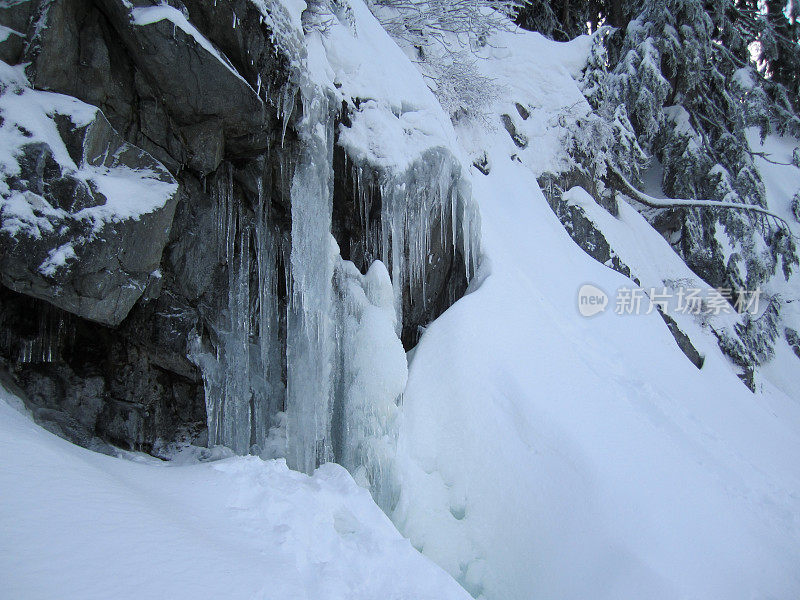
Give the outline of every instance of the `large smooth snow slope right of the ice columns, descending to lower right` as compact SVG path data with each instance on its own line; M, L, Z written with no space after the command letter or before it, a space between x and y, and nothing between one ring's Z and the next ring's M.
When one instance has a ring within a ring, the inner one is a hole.
M542 123L568 114L574 45L494 46L497 121L514 102ZM499 125L458 133L491 164L473 170L484 274L410 365L401 532L492 600L800 597L798 398L768 381L751 394L713 344L697 370L655 313L617 316L612 300L581 317L582 284L632 282L584 254L540 192L557 140L520 153ZM617 250L647 264L652 232L624 208Z

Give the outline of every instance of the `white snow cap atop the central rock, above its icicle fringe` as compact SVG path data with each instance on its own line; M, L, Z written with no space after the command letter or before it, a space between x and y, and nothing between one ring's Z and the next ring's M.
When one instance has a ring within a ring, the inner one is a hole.
M362 0L342 7L321 17L324 35L307 37L310 77L351 110L338 143L356 162L395 172L433 148L460 157L450 119L419 71Z

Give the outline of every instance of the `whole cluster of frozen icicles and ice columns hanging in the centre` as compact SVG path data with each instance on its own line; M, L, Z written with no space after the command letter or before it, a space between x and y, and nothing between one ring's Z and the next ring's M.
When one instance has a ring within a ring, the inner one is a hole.
M469 279L477 219L444 152L377 184L362 173L367 167L353 166L362 243L376 258L362 274L341 258L331 234L335 115L324 93L302 92L291 242L270 222L262 191L252 219L234 200L230 177L214 190L228 304L215 355L193 356L205 384L209 445L285 457L307 473L335 460L386 506L394 495L386 463L407 378L403 290L424 286L431 215L452 219L452 239L439 242L458 244ZM370 222L373 185L380 186L378 223Z

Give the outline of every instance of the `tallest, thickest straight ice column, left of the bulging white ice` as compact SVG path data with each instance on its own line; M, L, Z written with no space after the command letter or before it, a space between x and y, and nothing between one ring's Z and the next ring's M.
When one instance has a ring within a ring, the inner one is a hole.
M291 187L286 458L290 467L311 473L332 456L333 119L319 90L302 90L302 99L303 154Z

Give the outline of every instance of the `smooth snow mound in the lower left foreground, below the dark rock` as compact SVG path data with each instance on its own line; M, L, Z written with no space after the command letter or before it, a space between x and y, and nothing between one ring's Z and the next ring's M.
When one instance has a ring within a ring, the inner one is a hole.
M468 598L342 467L120 460L9 402L0 388L0 597Z

